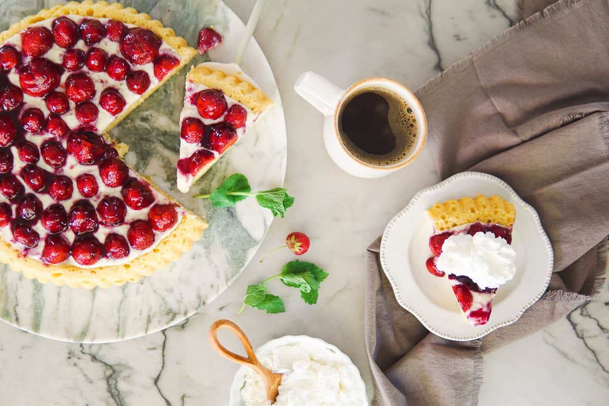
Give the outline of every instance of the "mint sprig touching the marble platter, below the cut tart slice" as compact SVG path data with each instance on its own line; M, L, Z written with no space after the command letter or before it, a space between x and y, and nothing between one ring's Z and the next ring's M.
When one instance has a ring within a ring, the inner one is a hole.
M210 194L195 195L196 198L209 198L216 208L233 207L238 201L253 196L258 205L269 209L273 217L283 217L286 210L294 205L294 197L287 194L283 187L252 193L252 187L241 173L234 173Z

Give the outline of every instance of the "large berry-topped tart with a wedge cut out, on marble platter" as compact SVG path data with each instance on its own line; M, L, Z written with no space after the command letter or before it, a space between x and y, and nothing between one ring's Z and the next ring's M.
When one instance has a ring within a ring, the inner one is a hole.
M105 288L200 239L206 223L104 136L195 53L107 2L57 5L0 33L0 261L43 283Z

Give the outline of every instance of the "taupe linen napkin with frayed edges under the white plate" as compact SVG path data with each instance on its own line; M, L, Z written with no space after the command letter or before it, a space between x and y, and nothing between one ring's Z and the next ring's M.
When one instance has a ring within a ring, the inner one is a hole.
M540 214L554 275L519 321L459 343L429 333L396 302L377 240L365 298L374 405L476 405L482 352L543 329L600 289L599 244L609 234L607 21L607 0L557 2L417 91L441 177L471 169L509 183Z

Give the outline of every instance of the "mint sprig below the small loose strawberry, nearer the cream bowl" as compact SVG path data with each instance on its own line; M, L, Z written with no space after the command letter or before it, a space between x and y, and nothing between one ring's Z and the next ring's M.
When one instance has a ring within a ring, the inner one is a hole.
M273 279L280 279L284 285L300 290L300 296L306 304L317 303L321 283L328 278L328 273L312 262L292 261L283 265L281 273L271 276L258 285L249 285L243 306L239 309L241 314L245 307L255 307L267 313L283 313L286 311L283 300L279 296L271 295L266 284Z

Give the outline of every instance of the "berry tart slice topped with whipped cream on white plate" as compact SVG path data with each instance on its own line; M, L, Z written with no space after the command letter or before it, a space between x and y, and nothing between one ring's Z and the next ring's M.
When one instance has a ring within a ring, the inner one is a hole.
M468 323L486 324L498 287L516 272L514 205L499 196L478 195L437 203L427 215L434 228L429 273L446 276Z

